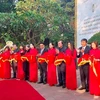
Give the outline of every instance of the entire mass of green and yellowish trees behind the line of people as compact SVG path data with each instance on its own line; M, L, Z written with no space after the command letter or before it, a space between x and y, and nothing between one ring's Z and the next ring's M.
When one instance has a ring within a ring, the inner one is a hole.
M58 0L20 0L15 9L0 13L0 36L4 41L39 44L46 37L54 42L74 40L70 16Z

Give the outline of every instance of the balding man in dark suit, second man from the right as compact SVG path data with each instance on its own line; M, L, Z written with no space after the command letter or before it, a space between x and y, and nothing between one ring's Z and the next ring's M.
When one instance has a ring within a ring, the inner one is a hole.
M65 53L66 48L63 46L63 42L58 42L58 50L59 52ZM65 88L65 76L66 76L66 64L62 62L59 66L57 66L58 70L58 82L57 87L62 86L62 88Z

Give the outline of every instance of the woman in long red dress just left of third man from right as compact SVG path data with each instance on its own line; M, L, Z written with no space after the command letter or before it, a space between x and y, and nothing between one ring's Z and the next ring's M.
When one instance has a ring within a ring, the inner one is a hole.
M30 44L30 55L29 55L29 80L31 82L37 82L38 80L38 66L36 61L37 49L34 44Z

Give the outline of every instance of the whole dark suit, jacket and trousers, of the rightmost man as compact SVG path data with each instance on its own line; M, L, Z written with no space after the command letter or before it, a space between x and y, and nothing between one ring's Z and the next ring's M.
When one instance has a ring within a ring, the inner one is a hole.
M79 48L82 50L82 47ZM89 54L90 47L86 46L84 49L84 54ZM78 58L82 57L82 53L80 52L79 55L77 55ZM80 76L81 76L81 83L82 87L85 89L89 89L89 64L85 64L80 66Z

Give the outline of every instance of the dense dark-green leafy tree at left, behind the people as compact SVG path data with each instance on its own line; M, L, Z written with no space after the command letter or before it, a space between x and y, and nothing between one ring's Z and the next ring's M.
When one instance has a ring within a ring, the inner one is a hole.
M25 12L22 15L15 13L0 14L0 36L5 41L11 40L15 43L35 44L40 40L40 34L45 31L46 22L38 14Z

